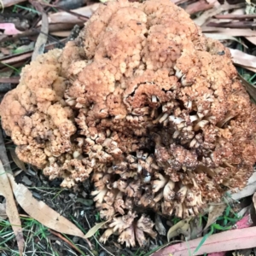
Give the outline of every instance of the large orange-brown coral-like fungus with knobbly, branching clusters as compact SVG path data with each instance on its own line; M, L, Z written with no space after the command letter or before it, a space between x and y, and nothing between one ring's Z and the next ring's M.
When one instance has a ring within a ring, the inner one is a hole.
M143 246L149 210L194 216L253 172L256 112L230 51L169 0L101 5L0 111L20 160L62 186L91 179L101 241Z

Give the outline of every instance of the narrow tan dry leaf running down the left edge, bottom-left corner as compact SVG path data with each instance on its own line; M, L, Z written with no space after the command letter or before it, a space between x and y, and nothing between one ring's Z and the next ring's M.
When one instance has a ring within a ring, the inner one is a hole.
M9 218L10 224L12 224L12 229L14 230L16 241L19 247L19 253L21 256L24 249L24 239L20 223L20 216L15 204L15 199L11 185L9 183L8 175L12 177L11 174L7 174L7 172L5 172L3 169L2 161L0 160L0 195L3 195L6 200L6 214Z

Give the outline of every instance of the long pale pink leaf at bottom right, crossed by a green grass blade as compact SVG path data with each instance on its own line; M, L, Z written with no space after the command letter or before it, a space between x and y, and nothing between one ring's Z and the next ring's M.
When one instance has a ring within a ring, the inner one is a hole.
M170 247L166 247L153 256L188 256L189 251L192 253L201 242L202 237L195 240L184 241ZM246 249L256 247L256 227L242 230L228 230L212 236L193 255L202 255L204 253L227 252L231 250Z

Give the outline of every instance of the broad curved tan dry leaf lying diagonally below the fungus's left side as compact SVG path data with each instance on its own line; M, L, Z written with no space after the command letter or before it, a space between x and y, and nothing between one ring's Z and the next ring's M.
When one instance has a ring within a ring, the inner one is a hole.
M22 207L29 216L38 220L38 222L44 224L44 226L51 230L84 238L83 232L79 230L75 224L48 207L43 201L36 200L23 184L15 183L13 176L8 175L8 177L16 201L18 201L20 207Z

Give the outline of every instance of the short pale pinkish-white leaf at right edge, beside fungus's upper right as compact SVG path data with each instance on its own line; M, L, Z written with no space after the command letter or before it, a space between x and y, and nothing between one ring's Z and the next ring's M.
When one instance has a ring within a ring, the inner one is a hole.
M235 64L256 68L256 56L248 55L239 49L230 49L230 53Z

